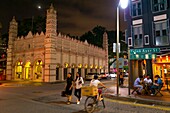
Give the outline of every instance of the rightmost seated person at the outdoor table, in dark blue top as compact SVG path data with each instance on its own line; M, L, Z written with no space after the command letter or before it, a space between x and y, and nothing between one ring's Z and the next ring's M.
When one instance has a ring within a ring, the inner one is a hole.
M155 94L155 89L158 89L159 87L161 87L162 85L162 80L160 78L159 75L156 75L155 78L157 78L157 82L156 83L153 83L153 85L151 86L151 96Z

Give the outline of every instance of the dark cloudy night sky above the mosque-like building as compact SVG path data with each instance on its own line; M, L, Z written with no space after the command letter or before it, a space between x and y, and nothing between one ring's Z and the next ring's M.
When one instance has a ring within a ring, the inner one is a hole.
M63 34L81 36L97 25L107 30L116 29L118 0L1 0L2 33L8 31L13 16L16 20L45 16L51 3L57 10L58 31ZM38 9L39 5L41 9ZM120 9L120 16L120 27L124 30L123 9Z

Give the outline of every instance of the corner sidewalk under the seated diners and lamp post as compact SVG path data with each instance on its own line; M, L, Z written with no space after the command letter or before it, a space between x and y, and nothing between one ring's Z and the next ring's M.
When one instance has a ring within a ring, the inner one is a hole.
M119 87L119 96L117 96L117 87L116 86L110 87L110 89L114 90L114 93L105 94L105 96L110 99L170 107L170 91L167 91L166 89L163 89L163 91L161 91L163 96L160 96L159 94L156 96L137 95L135 93L131 94L132 90L130 90L130 95L129 95L128 88L121 88L121 87Z

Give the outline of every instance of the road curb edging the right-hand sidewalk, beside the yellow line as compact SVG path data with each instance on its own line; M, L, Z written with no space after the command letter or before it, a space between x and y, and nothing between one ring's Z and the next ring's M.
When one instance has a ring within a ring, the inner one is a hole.
M119 101L127 101L127 102L134 102L139 104L147 104L147 105L160 105L170 107L170 102L165 101L158 101L158 100L151 100L151 99L143 99L143 98L136 98L136 97L122 97L122 96L115 96L115 95L104 95L106 98L119 100Z

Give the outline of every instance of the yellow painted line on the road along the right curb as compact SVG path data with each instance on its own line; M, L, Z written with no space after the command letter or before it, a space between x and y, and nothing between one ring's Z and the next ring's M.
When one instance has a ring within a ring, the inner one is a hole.
M126 104L126 105L132 105L132 106L140 106L140 107L147 107L147 108L154 108L154 109L159 109L159 110L170 111L170 107L165 107L165 106L146 105L146 104L139 104L139 103L133 103L133 102L113 100L113 99L108 99L108 98L105 98L105 100L110 101L110 102L120 103L120 104Z

